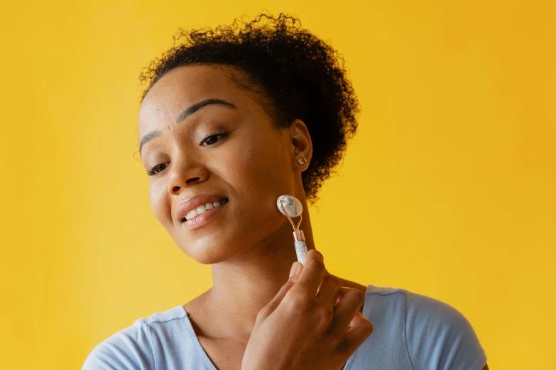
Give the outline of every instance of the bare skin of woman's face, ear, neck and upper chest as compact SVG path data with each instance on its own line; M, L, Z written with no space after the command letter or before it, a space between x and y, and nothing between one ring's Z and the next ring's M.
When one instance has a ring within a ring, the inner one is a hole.
M241 367L258 311L280 291L297 260L293 229L276 208L278 196L292 194L301 201L300 229L307 250L315 249L301 180L312 155L307 127L294 120L278 132L261 96L240 89L229 74L242 76L225 66L173 69L151 87L138 115L139 138L160 130L141 148L143 167L157 165L158 173L149 176L153 214L185 254L212 266L212 288L184 308L218 369ZM222 99L236 108L211 104L176 122L185 108L205 99ZM227 136L200 145L220 128ZM307 162L300 165L299 158ZM197 194L229 202L209 223L188 230L175 211L178 203ZM366 290L339 279L342 286Z

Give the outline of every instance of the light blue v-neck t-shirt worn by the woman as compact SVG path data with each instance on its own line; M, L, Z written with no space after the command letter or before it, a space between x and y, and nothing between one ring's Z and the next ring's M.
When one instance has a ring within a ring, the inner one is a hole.
M344 370L481 370L486 354L458 310L406 289L366 288L363 315L374 331ZM216 370L182 305L116 332L92 349L82 370Z

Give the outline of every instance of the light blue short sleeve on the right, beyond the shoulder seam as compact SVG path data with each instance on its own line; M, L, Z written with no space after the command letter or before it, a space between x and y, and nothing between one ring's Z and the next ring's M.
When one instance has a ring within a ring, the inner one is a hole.
M486 354L462 313L434 298L404 293L405 340L413 369L483 369Z

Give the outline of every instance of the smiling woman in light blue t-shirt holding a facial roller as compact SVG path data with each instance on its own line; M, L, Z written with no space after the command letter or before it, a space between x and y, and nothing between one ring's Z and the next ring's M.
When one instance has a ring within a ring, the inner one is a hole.
M156 219L214 286L116 332L83 369L488 369L451 306L329 274L307 211L295 262L276 199L315 203L357 127L332 47L282 13L181 36L141 74L139 152Z

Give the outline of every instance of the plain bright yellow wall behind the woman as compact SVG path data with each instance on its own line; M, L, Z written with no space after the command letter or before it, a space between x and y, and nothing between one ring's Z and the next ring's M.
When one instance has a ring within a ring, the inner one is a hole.
M211 286L148 205L138 74L178 27L262 10L331 42L361 101L310 210L329 271L453 305L493 370L556 369L555 2L501 0L3 5L0 369L80 369Z

